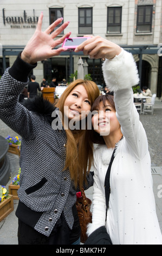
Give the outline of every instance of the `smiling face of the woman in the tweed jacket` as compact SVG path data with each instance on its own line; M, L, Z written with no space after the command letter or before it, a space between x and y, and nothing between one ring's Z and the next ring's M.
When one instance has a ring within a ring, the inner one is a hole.
M91 102L84 86L79 84L69 93L64 102L64 114L69 120L81 120L86 117L91 108ZM87 113L86 113L87 112Z

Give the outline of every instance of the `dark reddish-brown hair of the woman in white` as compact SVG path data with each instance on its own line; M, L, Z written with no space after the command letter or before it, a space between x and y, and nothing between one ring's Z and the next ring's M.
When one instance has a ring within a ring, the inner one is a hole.
M106 106L106 101L108 101L109 105L111 105L112 108L114 109L114 111L116 111L115 103L114 103L114 96L106 94L106 95L99 96L94 101L94 103L92 105L92 112L99 108L100 102L103 103L103 106ZM98 132L95 132L93 127L92 127L92 131L90 132L90 140L96 144L105 144L103 137Z

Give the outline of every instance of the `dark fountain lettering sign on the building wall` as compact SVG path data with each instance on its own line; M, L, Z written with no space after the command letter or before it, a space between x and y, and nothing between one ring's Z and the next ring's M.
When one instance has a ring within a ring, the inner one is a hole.
M5 16L5 8L3 8L3 24L10 24L11 28L36 28L37 22L35 10L33 10L33 16L28 16L25 10L22 16Z

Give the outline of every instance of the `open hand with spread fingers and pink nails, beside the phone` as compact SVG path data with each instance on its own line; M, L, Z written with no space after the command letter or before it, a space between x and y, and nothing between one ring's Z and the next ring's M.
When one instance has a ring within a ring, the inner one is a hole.
M69 25L69 22L64 22L62 26L52 32L54 28L57 27L62 21L62 18L57 19L46 29L46 31L42 32L42 20L43 13L41 13L38 19L37 28L34 35L28 41L27 45L21 53L21 58L29 64L35 64L39 60L44 60L59 55L62 51L64 51L64 49L60 47L54 50L54 48L57 45L62 44L64 39L68 38L71 34L71 32L69 32L62 36L60 39L54 41L54 38Z

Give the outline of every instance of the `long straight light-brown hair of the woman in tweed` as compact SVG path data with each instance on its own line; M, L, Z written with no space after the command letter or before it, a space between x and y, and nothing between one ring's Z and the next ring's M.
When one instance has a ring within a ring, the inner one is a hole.
M61 95L59 101L56 103L56 107L62 112L62 117L64 116L64 102L70 92L74 87L82 84L85 87L88 98L91 105L94 100L99 96L100 91L96 86L96 83L88 80L75 80L70 83L67 89ZM62 120L64 125L64 120ZM66 129L67 144L66 144L66 163L64 169L69 168L71 179L74 181L75 186L77 184L81 188L83 181L86 181L87 167L88 172L93 161L93 143L90 141L89 133L91 131L85 130L75 130L71 131Z

